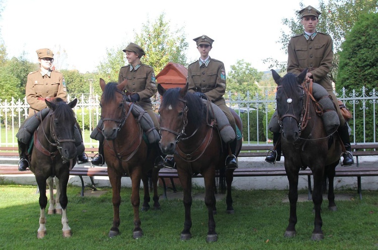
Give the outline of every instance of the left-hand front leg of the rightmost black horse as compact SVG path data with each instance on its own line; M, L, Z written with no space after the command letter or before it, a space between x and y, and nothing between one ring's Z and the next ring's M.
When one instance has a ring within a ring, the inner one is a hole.
M298 171L290 170L286 167L287 179L289 180L289 202L290 202L290 217L289 225L286 228L285 237L294 237L296 234L295 225L297 224L297 201L298 201Z

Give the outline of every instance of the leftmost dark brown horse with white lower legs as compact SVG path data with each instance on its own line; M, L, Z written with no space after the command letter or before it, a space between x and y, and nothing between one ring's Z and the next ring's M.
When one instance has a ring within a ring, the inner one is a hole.
M46 235L45 209L47 205L46 181L50 190L49 214L62 214L61 224L64 237L72 235L67 219L67 183L70 177L70 163L76 163L74 126L76 118L72 110L77 103L74 99L69 104L60 98L53 102L45 101L50 112L42 120L34 133L34 145L31 154L30 170L34 173L39 189L40 218L37 237ZM53 177L56 180L56 201L53 197ZM54 208L55 205L55 208Z

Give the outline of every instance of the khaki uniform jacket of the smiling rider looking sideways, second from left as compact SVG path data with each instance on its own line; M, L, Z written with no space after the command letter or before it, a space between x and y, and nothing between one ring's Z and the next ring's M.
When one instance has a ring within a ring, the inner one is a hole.
M119 70L118 84L124 79L128 79L128 83L124 87L127 94L138 93L140 100L136 104L142 109L152 109L151 96L156 93L156 79L154 69L145 64L135 70L130 71L130 65L123 66Z

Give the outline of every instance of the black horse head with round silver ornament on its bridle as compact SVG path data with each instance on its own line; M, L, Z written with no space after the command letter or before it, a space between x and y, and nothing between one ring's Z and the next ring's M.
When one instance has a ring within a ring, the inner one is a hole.
M302 83L305 79L307 70L298 76L287 73L281 77L276 71L272 70L274 81L277 83L277 113L282 137L289 142L296 141L301 133L303 119L303 99L304 90Z

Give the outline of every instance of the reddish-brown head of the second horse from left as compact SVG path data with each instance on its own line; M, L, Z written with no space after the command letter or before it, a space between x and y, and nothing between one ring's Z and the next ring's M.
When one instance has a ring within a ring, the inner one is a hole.
M126 95L123 91L127 80L120 84L115 82L105 83L100 79L102 89L100 107L103 122L102 134L106 140L114 140L118 131L126 121Z

